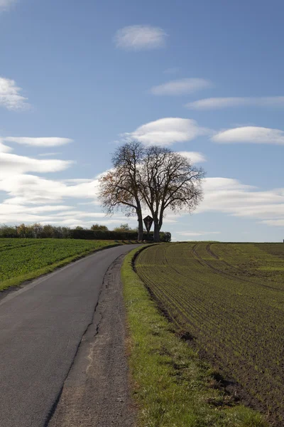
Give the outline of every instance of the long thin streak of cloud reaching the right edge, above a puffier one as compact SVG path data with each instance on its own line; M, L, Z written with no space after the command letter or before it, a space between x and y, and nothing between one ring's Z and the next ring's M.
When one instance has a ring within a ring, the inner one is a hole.
M217 110L225 107L256 105L259 107L284 107L284 96L268 97L211 97L189 102L186 107L193 110Z

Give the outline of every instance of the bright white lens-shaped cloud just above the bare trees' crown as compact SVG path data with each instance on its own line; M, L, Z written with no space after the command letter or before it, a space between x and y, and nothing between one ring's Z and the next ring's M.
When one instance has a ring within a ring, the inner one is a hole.
M195 120L179 117L165 117L146 123L134 132L124 134L127 139L138 139L144 144L171 145L175 142L190 141L209 131L199 127Z

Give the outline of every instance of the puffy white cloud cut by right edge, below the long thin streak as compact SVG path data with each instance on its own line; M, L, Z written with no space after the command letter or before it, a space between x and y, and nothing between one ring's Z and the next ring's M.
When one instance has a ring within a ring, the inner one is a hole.
M245 126L224 130L217 133L212 141L220 144L234 144L249 142L252 144L284 144L283 130L270 129L268 127Z

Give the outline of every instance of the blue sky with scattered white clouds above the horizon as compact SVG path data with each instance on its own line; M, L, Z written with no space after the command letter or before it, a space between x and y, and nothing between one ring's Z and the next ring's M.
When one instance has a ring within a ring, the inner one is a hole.
M129 139L207 172L174 241L283 241L281 0L0 0L0 223L137 226L99 176ZM148 211L145 211L145 215Z

